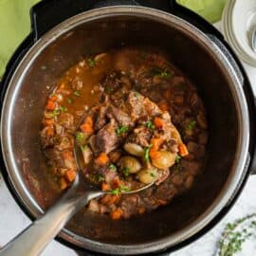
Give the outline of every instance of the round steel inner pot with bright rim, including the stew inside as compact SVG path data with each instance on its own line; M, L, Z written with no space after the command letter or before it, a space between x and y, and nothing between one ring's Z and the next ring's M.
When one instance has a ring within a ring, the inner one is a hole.
M240 191L251 150L245 81L219 44L139 7L83 12L46 33L2 111L5 163L27 211L39 216L68 190L78 143L83 174L111 193L71 219L66 242L151 253L209 229Z

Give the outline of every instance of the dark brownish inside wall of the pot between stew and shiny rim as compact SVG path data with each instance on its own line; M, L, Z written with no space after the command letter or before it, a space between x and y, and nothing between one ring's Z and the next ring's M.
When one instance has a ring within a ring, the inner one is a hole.
M192 191L166 207L131 220L110 221L81 210L67 229L104 243L135 245L151 242L185 228L210 207L222 190L236 152L237 114L225 71L179 29L147 18L115 16L84 23L47 46L27 70L14 106L11 143L24 181L41 207L59 196L46 175L39 131L46 97L64 70L90 53L121 46L155 46L165 51L198 88L210 123L208 159Z

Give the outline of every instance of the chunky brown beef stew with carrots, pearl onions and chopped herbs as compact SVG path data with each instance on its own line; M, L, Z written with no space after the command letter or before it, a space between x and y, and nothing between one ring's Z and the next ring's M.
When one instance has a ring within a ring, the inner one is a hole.
M91 200L88 210L112 219L155 210L192 188L207 140L205 109L192 82L150 48L89 56L67 70L48 97L41 131L60 190L76 177L77 143L81 172L111 192ZM120 193L150 183L143 192Z

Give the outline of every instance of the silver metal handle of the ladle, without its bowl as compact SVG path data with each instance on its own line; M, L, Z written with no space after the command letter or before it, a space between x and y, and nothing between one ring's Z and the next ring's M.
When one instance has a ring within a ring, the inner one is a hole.
M70 192L45 215L33 222L0 250L0 256L36 256L64 228L66 222L86 205L89 200L102 192L85 192L71 198Z

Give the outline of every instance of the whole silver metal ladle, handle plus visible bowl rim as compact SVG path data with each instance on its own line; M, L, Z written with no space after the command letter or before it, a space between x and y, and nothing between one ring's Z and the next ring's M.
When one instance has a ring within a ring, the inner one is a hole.
M82 116L82 119L84 115ZM82 119L79 121L81 124ZM80 127L80 125L78 125ZM76 129L78 130L78 128ZM74 154L78 167L78 145L75 143ZM123 194L141 192L154 183L142 188ZM105 195L110 192L101 192L99 188L92 186L85 180L82 171L79 171L76 178L64 196L44 215L31 223L27 229L14 237L9 244L0 250L0 256L34 256L39 255L46 245L64 228L67 221L91 199Z

